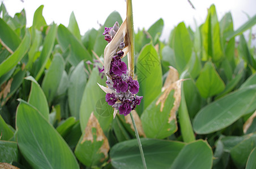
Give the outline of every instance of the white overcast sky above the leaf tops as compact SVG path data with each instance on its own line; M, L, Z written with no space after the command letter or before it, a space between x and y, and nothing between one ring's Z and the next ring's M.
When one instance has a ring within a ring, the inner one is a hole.
M32 25L33 14L40 5L44 5L42 15L47 24L54 21L54 23L67 26L70 14L74 11L82 35L88 29L99 29L99 23L104 24L106 17L115 10L120 13L123 20L126 16L125 0L24 0L24 2L0 0L0 2L5 4L7 12L11 16L25 8L27 26ZM161 38L168 39L170 30L181 21L185 21L185 24L190 25L193 29L195 28L194 20L198 25L202 24L207 16L207 8L212 3L215 4L219 20L226 12L231 11L234 29L248 20L244 12L250 17L256 14L255 0L191 0L191 2L195 10L187 0L133 0L135 31L138 28L148 29L155 21L163 18L164 30ZM255 27L253 33L256 33Z

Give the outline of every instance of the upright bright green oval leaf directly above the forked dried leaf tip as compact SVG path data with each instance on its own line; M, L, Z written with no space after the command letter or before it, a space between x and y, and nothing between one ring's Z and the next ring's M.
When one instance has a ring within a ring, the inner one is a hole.
M192 54L193 43L184 23L178 24L174 34L174 53L176 67L182 73Z

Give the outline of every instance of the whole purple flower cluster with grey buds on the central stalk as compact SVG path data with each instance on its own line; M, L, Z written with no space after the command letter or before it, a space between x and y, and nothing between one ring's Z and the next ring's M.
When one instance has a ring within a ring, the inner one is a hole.
M113 27L105 28L103 35L110 43L119 29L116 22ZM139 91L139 83L128 75L127 65L121 61L124 55L122 49L125 43L121 42L110 63L110 77L107 76L106 84L113 90L112 94L106 94L105 100L120 114L127 115L140 104L143 96L135 96Z

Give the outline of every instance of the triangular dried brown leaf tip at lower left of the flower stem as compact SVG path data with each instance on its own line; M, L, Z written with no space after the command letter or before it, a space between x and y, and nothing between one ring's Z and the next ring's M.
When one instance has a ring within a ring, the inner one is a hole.
M96 128L96 135L92 132L93 128ZM84 137L83 140L81 141L81 144L84 143L84 141L103 141L103 145L99 149L99 153L103 153L105 155L105 158L108 157L108 152L109 152L109 143L108 139L104 135L104 132L102 128L100 127L100 123L93 114L91 113L86 129L84 130Z

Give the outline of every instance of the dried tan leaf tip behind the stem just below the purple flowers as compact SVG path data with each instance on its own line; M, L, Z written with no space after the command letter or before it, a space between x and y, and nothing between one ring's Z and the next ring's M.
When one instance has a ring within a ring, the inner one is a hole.
M140 121L139 115L135 110L132 110L131 113L133 114L134 121L140 136L146 137L146 134L143 131L142 121ZM133 122L131 121L130 115L125 116L125 122L131 125L131 129L134 131Z

